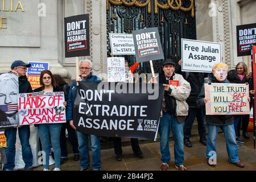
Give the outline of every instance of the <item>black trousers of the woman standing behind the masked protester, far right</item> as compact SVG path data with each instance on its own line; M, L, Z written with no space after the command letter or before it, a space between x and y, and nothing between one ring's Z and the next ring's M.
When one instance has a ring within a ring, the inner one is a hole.
M236 137L240 137L240 126L242 122L242 131L245 133L249 125L250 115L235 115L234 116L234 130L236 131Z

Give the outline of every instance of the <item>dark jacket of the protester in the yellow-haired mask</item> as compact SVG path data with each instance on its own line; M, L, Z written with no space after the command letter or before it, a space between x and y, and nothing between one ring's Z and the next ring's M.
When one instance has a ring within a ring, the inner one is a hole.
M213 73L209 73L208 80L206 82L210 83L230 83L227 79L220 82L216 79L216 77L213 75ZM199 107L204 106L204 85L201 89L201 92L199 94L199 97L197 98L196 104ZM218 126L227 126L227 125L233 125L234 118L233 115L206 115L205 121L210 125L218 125Z

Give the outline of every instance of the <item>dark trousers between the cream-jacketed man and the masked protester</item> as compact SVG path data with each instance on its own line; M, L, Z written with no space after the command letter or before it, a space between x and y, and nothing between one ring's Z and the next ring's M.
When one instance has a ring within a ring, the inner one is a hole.
M191 129L195 118L197 119L198 133L200 137L205 137L204 110L202 108L189 107L188 116L185 119L184 138L191 137Z

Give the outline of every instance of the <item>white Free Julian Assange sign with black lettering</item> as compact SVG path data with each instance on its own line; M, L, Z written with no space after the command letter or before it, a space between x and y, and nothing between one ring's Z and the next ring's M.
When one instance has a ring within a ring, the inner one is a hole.
M181 71L212 72L216 63L221 63L221 43L181 39Z

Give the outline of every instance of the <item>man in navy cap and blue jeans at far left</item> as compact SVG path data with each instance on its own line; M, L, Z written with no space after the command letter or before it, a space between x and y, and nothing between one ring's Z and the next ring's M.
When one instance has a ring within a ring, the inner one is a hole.
M19 93L31 93L32 88L30 82L27 81L27 68L30 67L30 64L26 64L21 60L16 60L11 64L11 72L18 74L19 77ZM10 89L10 86L1 85L1 88ZM18 100L18 96L16 98ZM2 105L2 104L1 104ZM16 132L17 128L5 129L5 136L7 140L6 148L6 164L5 170L11 171L15 167L15 143L16 143ZM29 143L30 139L30 126L18 127L19 139L22 145L22 159L25 163L24 169L32 170L32 151Z

